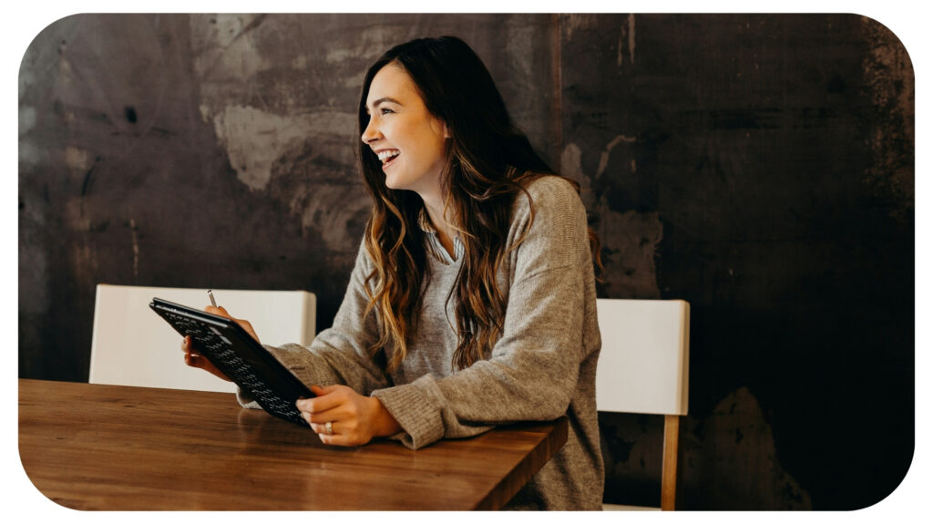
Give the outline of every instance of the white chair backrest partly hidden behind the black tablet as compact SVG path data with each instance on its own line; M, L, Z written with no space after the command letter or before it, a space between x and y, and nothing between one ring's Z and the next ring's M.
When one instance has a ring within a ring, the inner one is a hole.
M306 291L215 289L218 306L248 320L263 344L311 344L316 300ZM154 296L203 309L206 289L97 285L91 339L91 376L96 384L117 384L214 392L236 385L185 365L181 337L149 309Z

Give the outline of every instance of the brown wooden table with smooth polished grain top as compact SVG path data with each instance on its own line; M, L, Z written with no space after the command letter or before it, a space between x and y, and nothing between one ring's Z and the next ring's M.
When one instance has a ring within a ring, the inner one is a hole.
M336 448L230 393L20 379L22 465L75 509L498 509L566 439L562 418Z

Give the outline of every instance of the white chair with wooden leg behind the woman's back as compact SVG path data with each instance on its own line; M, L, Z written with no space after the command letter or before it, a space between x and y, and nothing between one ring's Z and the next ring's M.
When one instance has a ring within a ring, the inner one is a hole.
M599 298L596 311L603 338L596 408L664 416L661 510L673 510L680 417L687 414L689 303Z

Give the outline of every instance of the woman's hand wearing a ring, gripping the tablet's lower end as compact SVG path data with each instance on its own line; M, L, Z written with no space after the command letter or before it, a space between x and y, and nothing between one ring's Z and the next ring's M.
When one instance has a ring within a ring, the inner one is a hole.
M295 406L325 444L362 446L373 437L388 436L401 430L378 398L363 396L341 385L312 386L311 391L317 396L301 398ZM327 422L330 422L330 434L327 433Z

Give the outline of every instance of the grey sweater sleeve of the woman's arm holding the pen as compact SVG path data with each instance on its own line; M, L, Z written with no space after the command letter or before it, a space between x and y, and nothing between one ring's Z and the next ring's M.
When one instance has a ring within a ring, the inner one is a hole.
M364 395L391 385L384 370L382 350L370 350L378 339L375 313L364 315L369 303L366 277L371 268L366 246L361 244L334 323L318 333L311 346L264 345L304 384L343 384ZM259 407L242 390L237 392L237 401L244 407Z

